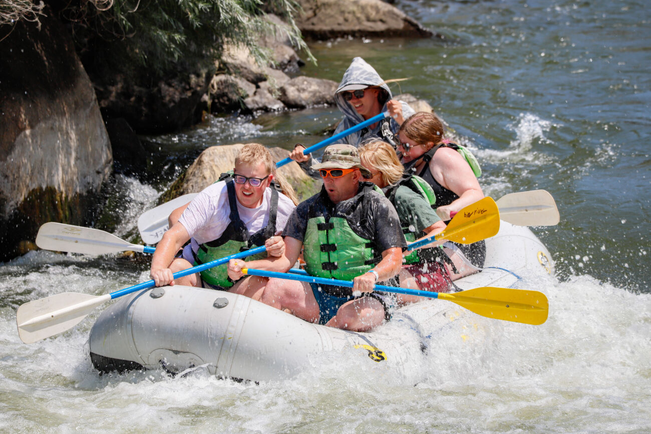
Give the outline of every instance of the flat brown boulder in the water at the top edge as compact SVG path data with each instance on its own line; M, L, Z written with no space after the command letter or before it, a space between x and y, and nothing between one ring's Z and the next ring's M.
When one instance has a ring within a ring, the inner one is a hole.
M296 16L296 25L303 36L330 39L342 36L433 35L413 18L381 0L298 0L303 13Z

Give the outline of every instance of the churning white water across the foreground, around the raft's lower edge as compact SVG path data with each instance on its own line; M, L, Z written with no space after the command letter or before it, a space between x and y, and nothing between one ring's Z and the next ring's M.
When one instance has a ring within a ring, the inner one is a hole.
M50 262L51 255L31 261ZM41 275L48 292L61 289L56 282L74 291L96 288L100 280L124 284L116 273L68 272L83 260L67 257L51 265L51 277ZM12 272L3 294L26 289L20 269ZM0 426L55 432L106 426L227 432L650 428L651 295L589 276L564 283L525 280L521 286L547 294L544 325L497 321L459 308L449 326L428 336L419 334L417 323L411 332L404 322L383 326L381 332L396 340L425 343L426 352L387 355L385 363L352 349L324 353L296 377L260 385L218 380L201 367L176 378L161 371L100 376L90 364L87 337L101 308L71 331L32 345L18 339L14 310L2 308Z

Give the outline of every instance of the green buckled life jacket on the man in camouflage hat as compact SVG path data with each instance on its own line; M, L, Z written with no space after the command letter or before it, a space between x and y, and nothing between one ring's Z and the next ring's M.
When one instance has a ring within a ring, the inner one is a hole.
M350 200L357 206L370 207L370 198L374 186L365 183L363 189ZM320 193L327 195L324 190ZM346 217L330 217L326 219L323 209L317 200L308 210L307 228L303 239L303 258L305 270L311 276L353 280L366 273L380 262L380 255L374 251L373 243L352 229L359 222L349 222ZM368 215L363 210L362 215Z

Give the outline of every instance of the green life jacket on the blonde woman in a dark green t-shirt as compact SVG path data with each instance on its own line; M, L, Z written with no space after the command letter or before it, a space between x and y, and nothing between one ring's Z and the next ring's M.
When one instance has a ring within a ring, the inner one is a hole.
M405 173L395 185L389 185L383 189L385 196L387 199L389 199L396 210L398 209L396 206L396 192L398 191L398 187L401 185L408 187L411 189L411 191L414 191L415 193L421 195L422 198L424 198L424 200L430 204L432 209L436 208L436 195L434 194L434 189L432 189L432 186L420 176ZM410 228L408 222L406 221L400 221L400 224L402 224L402 233L404 234L407 242L413 243L416 241L417 234L415 233L415 228ZM419 234L419 236L421 234ZM429 249L418 249L405 256L402 259L402 262L404 264L417 264L436 256L438 256L436 247Z

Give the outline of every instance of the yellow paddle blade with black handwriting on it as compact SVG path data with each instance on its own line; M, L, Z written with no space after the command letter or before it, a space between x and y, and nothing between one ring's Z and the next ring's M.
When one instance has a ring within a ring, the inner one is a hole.
M436 239L471 244L492 237L499 231L499 210L495 200L485 197L462 208Z

